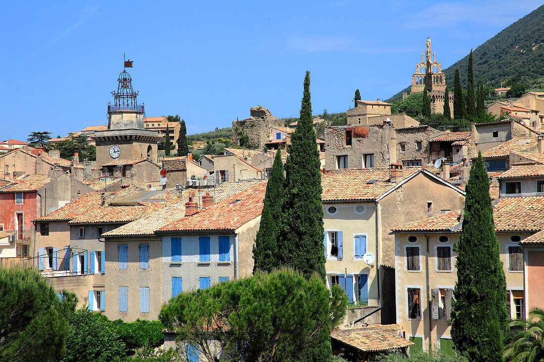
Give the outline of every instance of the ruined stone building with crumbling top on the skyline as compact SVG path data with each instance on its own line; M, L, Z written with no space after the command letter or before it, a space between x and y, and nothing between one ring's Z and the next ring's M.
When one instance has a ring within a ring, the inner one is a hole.
M248 146L250 148L263 148L269 140L270 127L284 127L283 120L274 117L267 108L252 107L250 117L245 120L232 121L232 144L234 146ZM243 145L244 138L248 138L248 144Z

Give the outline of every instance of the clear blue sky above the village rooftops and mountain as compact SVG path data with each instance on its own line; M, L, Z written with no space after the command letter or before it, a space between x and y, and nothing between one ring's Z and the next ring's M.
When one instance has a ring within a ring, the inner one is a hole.
M540 1L4 2L0 140L107 124L123 53L146 115L188 133L230 127L256 105L297 116L386 99L411 82L426 37L444 68Z

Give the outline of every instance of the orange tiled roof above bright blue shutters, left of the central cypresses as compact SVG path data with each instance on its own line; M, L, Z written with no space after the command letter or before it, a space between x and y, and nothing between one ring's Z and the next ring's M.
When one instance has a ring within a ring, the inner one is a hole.
M265 190L266 183L260 183L157 231L236 230L261 215Z

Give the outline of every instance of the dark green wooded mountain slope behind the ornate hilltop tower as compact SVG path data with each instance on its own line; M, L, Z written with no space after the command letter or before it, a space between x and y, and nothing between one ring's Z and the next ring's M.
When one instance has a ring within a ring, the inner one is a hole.
M503 29L472 51L474 85L499 87L509 79L531 80L544 76L544 5ZM459 68L461 84L467 83L468 54L443 70L446 84L453 89L455 68ZM410 86L386 102L393 102L410 91Z

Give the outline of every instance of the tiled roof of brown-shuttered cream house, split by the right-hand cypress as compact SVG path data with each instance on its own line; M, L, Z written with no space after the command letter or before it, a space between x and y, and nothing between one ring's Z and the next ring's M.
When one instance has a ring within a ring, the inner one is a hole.
M544 229L544 196L504 197L493 206L497 232L540 231ZM450 232L459 224L460 211L430 217L393 229L399 232ZM460 227L455 232L460 232Z

